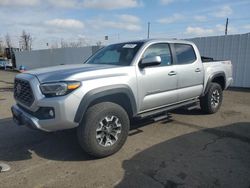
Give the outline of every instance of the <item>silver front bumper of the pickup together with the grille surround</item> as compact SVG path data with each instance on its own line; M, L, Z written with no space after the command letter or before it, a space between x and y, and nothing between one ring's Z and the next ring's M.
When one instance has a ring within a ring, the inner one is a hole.
M18 125L47 132L71 129L79 125L74 122L74 117L81 97L74 92L60 97L45 97L39 88L40 82L34 75L18 74L16 79L28 81L34 96L32 104L26 104L25 101L15 98L17 104L12 106L11 110L13 119ZM53 109L54 115L47 116L47 109Z

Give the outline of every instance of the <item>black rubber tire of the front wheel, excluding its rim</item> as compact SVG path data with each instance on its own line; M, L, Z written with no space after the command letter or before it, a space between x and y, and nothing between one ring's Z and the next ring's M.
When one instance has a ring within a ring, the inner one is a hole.
M97 128L105 117L115 116L121 124L121 133L116 142L104 147L97 141ZM124 145L130 128L130 120L127 112L118 104L102 102L90 106L79 127L77 128L78 141L83 150L91 156L101 158L116 153Z

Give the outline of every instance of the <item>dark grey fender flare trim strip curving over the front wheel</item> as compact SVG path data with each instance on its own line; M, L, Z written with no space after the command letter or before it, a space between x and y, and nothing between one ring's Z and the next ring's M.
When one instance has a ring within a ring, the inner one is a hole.
M127 85L113 85L113 86L104 86L100 88L93 89L84 95L82 98L78 109L76 111L76 115L74 118L74 122L79 123L86 110L88 109L88 106L95 100L105 97L105 96L110 96L110 95L115 95L115 94L125 94L129 98L129 102L131 104L131 110L132 110L132 115L135 116L137 112L137 107L136 107L136 101L134 94L132 90L127 86Z

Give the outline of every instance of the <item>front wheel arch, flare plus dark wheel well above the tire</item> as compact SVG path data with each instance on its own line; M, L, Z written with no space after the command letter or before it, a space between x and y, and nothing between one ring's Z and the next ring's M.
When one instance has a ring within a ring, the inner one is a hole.
M93 89L84 95L76 111L74 121L79 123L88 107L100 102L114 102L121 105L129 117L134 117L137 112L134 94L127 85L104 86Z

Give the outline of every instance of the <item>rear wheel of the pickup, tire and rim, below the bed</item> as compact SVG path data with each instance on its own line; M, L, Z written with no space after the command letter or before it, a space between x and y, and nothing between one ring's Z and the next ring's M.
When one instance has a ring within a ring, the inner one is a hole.
M221 86L211 83L208 92L200 99L201 110L208 114L216 113L222 103L223 95Z

